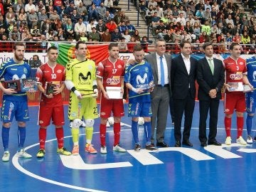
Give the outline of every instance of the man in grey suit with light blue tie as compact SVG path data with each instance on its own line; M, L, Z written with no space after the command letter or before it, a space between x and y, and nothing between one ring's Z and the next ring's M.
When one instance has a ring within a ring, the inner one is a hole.
M165 54L166 42L157 39L156 53L145 56L145 60L151 64L154 75L154 87L151 92L151 143L154 144L154 129L156 127L156 146L168 146L164 142L169 99L171 96L171 55Z

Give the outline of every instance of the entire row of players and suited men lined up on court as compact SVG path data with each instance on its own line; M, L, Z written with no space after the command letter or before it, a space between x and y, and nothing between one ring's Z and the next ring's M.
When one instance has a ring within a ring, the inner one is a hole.
M39 146L38 158L46 154L46 130L50 122L55 125L55 135L58 142L58 154L78 155L79 127L82 117L85 119L87 153L96 154L92 144L93 127L97 112L97 96L100 91L100 153L107 154L106 124L107 118L114 116L113 151L126 152L120 145L120 122L124 116L122 95L124 83L129 90L128 116L132 117L132 135L134 151L140 151L138 119L144 118L145 149L154 151L156 146L168 147L164 141L164 132L170 100L174 113L174 138L176 147L193 146L190 142L191 124L196 98L196 80L198 82L199 100L199 132L201 146L213 144L220 146L216 140L218 107L222 97L221 90L225 87L225 144L230 145L231 118L235 110L237 115L238 144L252 143L252 119L255 114L256 93L256 57L244 60L240 57L241 47L238 43L230 44L230 57L223 60L213 58L213 45L203 44L205 57L196 60L191 57L191 43L183 41L181 53L175 58L166 54L166 42L157 39L155 53L144 55L141 45L134 46L134 60L125 66L119 59L117 43L110 43L109 57L102 60L98 67L93 60L86 58L87 46L83 41L75 45L75 58L66 67L56 62L58 48L50 47L47 51L48 62L41 65L36 72L38 90L41 92L40 110L38 112ZM15 43L14 57L0 65L0 89L4 92L1 108L1 137L4 146L2 161L9 161L9 130L14 117L18 122L18 150L16 156L31 158L24 150L26 138L26 122L28 117L28 102L26 92L21 91L19 81L30 78L31 68L23 61L25 46ZM6 83L9 82L9 83ZM11 83L14 83L11 84ZM12 85L12 86L11 86ZM61 93L64 88L70 90L68 118L72 121L71 134L73 150L64 147L64 110ZM246 92L246 93L245 93ZM46 112L47 111L47 112ZM243 113L247 111L247 142L242 138ZM206 135L206 119L209 113L209 134ZM184 129L181 134L181 120L184 114ZM156 134L155 134L156 132ZM156 135L156 138L154 138ZM182 139L182 140L181 140ZM256 138L254 138L256 139ZM182 141L182 142L181 142Z

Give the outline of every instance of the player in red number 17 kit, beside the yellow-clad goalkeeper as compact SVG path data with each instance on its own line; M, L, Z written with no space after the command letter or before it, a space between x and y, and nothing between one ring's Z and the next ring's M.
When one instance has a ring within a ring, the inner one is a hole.
M120 87L121 93L124 92L124 61L119 60L119 48L117 43L111 43L109 48L109 58L99 63L97 68L97 85L102 92L100 101L100 153L106 154L106 124L107 118L111 112L114 116L114 146L113 151L125 152L119 145L120 139L120 122L124 116L124 104L121 99L110 99L107 95L106 87Z

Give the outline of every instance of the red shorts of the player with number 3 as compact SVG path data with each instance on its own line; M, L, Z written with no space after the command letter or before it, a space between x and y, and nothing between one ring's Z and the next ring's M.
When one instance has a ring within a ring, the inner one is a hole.
M245 112L245 93L243 92L228 92L225 93L224 101L225 113L233 114L234 110L236 112Z

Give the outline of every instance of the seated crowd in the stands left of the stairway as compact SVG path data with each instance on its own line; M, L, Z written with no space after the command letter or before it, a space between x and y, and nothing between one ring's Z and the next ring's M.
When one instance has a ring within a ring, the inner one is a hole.
M38 44L38 52L47 41L123 41L124 52L142 41L119 0L0 0L0 40L29 41L26 47ZM11 43L1 43L4 50Z

